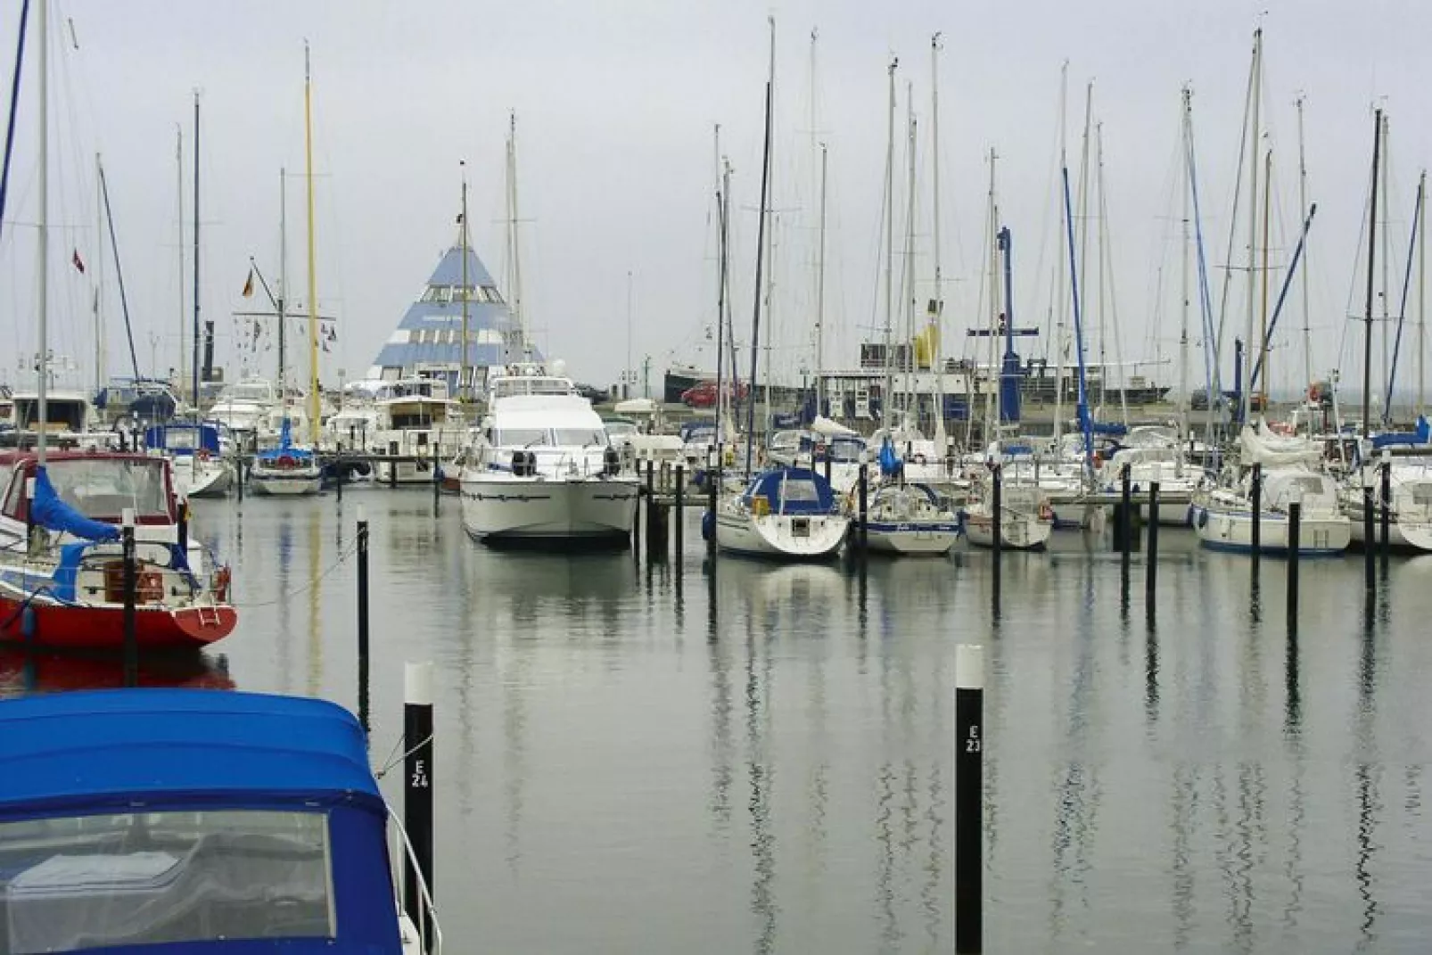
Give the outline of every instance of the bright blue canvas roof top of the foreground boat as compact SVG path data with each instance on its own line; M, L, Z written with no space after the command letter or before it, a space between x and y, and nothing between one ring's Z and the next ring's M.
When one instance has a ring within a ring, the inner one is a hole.
M326 700L126 689L0 703L0 820L222 802L384 810L362 727Z

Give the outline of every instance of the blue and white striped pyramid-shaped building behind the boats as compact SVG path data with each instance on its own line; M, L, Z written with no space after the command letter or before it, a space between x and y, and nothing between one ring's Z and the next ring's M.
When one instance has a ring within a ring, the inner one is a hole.
M438 261L427 285L368 369L368 378L444 377L450 394L461 391L463 367L463 246L454 245ZM471 246L467 249L467 361L473 367L473 391L480 394L487 369L510 361L524 361L523 335L497 282ZM541 361L536 348L530 361Z

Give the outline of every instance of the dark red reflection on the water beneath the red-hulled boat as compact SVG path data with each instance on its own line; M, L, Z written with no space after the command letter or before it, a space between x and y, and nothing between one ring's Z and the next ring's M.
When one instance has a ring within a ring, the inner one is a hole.
M0 699L122 686L125 659L116 653L0 650ZM232 690L235 683L229 677L229 659L222 653L183 653L142 659L139 686Z

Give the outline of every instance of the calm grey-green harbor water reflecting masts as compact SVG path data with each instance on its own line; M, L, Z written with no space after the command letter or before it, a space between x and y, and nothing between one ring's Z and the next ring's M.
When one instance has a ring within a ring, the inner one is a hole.
M1285 567L1164 530L1121 600L1107 538L845 566L498 553L421 491L195 503L238 631L146 680L357 706L371 521L372 753L435 664L437 898L453 951L948 952L958 643L982 643L985 949L1432 946L1432 558ZM0 659L0 690L106 664ZM384 779L398 799L398 773Z

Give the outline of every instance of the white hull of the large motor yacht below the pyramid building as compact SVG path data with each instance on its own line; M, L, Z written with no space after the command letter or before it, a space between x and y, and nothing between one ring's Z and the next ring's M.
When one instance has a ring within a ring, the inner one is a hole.
M613 477L517 477L493 471L461 481L463 525L485 543L624 543L637 483Z

